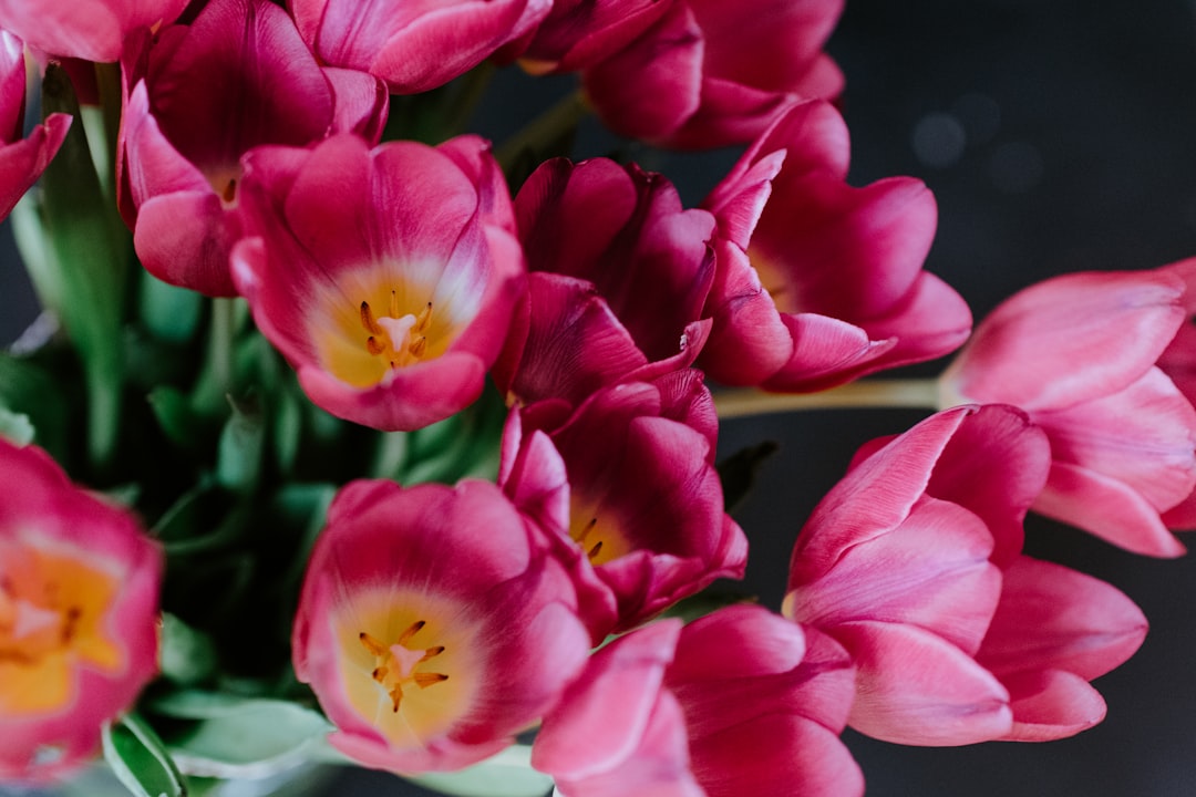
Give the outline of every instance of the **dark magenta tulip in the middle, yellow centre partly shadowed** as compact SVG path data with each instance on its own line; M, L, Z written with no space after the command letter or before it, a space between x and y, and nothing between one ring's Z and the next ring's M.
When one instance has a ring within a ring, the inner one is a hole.
M748 541L724 511L698 372L603 388L554 428L537 428L537 409L512 415L500 484L580 560L596 639L743 576Z

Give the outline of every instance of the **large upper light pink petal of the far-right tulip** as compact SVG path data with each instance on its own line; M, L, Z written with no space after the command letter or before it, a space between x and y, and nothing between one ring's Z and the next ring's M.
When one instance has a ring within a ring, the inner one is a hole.
M1167 271L1068 274L1031 286L976 327L944 374L969 400L1061 410L1131 385L1184 320Z

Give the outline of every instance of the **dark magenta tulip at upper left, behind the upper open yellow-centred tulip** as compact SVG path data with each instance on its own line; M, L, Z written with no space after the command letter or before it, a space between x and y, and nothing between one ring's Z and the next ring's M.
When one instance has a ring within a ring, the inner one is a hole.
M193 24L142 38L124 56L124 220L151 274L233 295L240 158L334 130L377 136L385 90L365 73L321 67L286 12L267 0L213 0Z

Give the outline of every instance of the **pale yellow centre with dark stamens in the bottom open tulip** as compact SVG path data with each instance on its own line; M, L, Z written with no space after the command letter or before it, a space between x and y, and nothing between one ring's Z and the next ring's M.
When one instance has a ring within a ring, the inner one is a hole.
M472 705L477 631L462 607L388 590L354 595L334 623L349 704L395 747L422 747Z

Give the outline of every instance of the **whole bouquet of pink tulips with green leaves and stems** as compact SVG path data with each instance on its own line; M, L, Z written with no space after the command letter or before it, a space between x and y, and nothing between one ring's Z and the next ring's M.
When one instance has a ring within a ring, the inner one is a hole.
M1196 259L972 331L927 185L848 182L838 0L68 5L0 0L0 214L47 309L0 352L0 791L335 761L853 797L847 727L1104 719L1147 620L1025 520L1183 553ZM578 93L495 146L500 66ZM690 207L642 148L574 151L590 111L743 152ZM720 460L720 421L861 403L926 416L793 517L753 605L731 513L765 447Z

